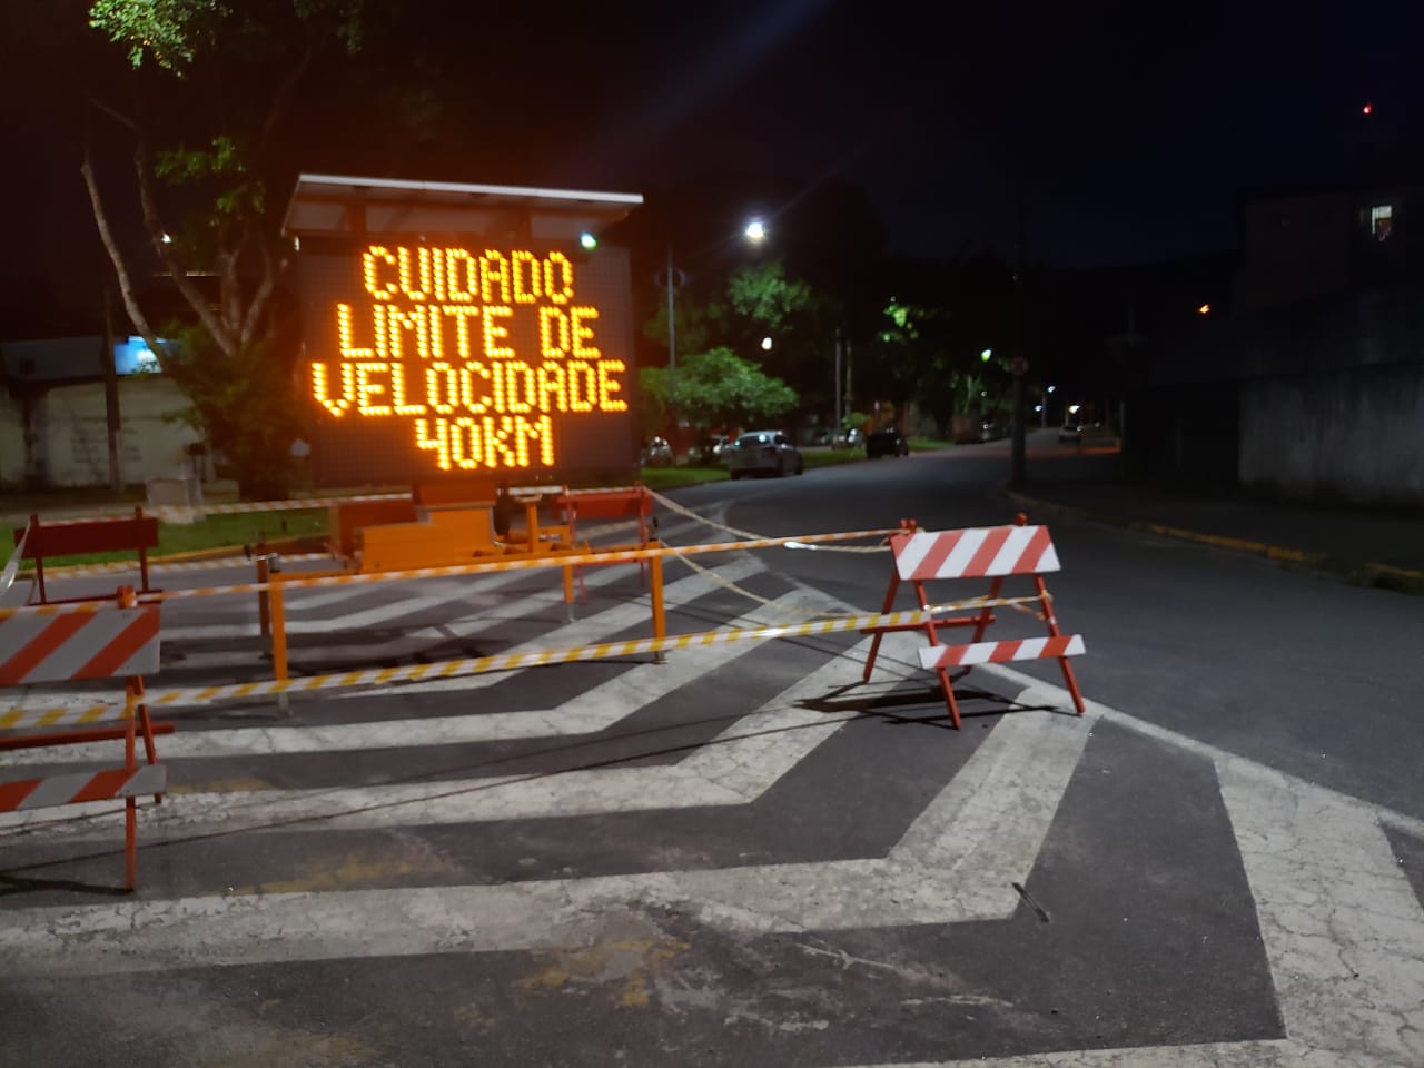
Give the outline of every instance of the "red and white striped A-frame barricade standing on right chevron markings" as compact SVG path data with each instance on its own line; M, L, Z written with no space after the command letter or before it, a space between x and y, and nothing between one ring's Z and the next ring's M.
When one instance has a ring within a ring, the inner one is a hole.
M1058 571L1058 553L1048 537L1048 527L1027 525L1022 514L1011 527L977 527L970 530L928 531L917 530L913 523L891 534L890 550L894 554L894 571L890 574L890 588L886 592L881 615L894 611L894 600L901 582L914 590L920 609L927 612L923 622L904 622L866 629L873 634L870 656L866 659L864 681L880 651L880 639L887 631L924 631L928 645L918 651L920 666L940 676L944 701L950 706L950 719L960 726L960 709L954 701L954 686L950 671L963 676L975 664L1004 661L1057 659L1064 671L1068 692L1074 706L1082 715L1082 693L1074 678L1068 656L1084 652L1082 637L1065 635L1058 629L1052 598L1044 585L1044 574ZM1004 580L1010 575L1028 575L1035 594L1032 597L1001 597ZM934 605L924 591L926 582L956 578L988 578L988 595L970 598L958 604ZM994 624L994 608L1038 605L1032 612L1048 627L1044 638L1015 638L1005 641L984 641L984 631ZM936 618L950 611L971 611L968 617ZM974 637L964 645L944 645L940 631L946 627L973 627Z

